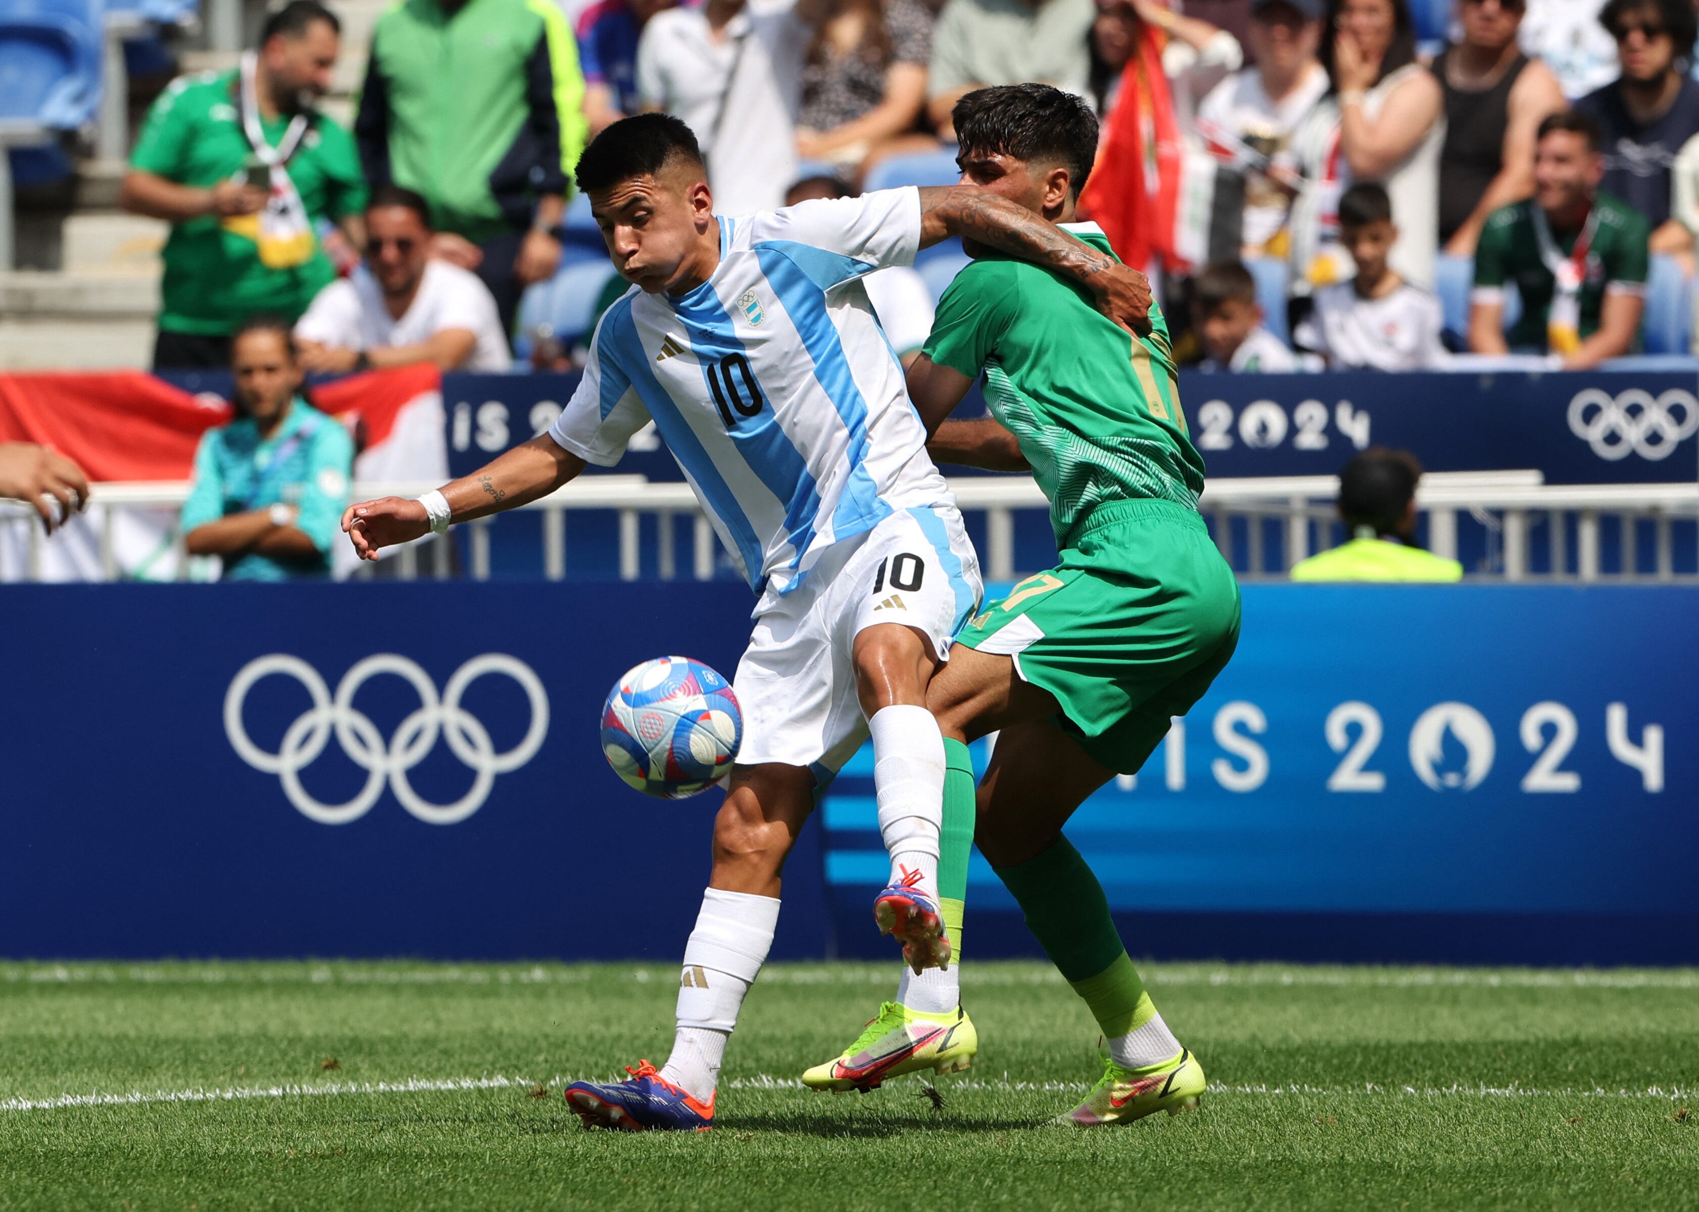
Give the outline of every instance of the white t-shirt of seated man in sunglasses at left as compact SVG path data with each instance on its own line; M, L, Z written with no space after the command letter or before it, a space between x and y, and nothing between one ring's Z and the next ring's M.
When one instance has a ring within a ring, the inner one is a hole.
M447 261L425 261L413 304L396 319L384 306L377 278L362 265L318 292L296 336L335 350L382 350L423 345L447 328L464 328L477 343L459 370L500 373L513 367L501 316L477 275Z

